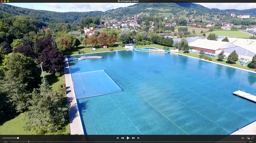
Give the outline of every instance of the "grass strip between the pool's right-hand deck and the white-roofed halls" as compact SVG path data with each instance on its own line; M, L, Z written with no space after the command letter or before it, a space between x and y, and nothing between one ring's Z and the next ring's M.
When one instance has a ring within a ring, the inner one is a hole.
M195 54L195 53L183 53L183 51L179 51L179 53L180 53L180 54L183 54L183 55L188 55L188 56L191 56L191 57L199 58L199 54ZM239 67L239 68L242 68L242 69L247 69L247 70L255 71L255 69L249 68L249 67L247 67L247 66L243 67L240 63L229 64L229 63L227 63L226 60L218 61L216 58L212 58L212 61L213 61L213 62L216 62L216 63L224 64L224 65L229 65L229 66L232 66L232 67Z

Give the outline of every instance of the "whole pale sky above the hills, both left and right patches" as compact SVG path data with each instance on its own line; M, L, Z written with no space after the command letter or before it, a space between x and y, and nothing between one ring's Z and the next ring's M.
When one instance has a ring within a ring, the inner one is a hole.
M128 7L135 3L8 3L10 5L39 10L50 10L56 12L86 12L107 11L119 7ZM256 8L256 3L198 3L207 8L219 9L249 9Z

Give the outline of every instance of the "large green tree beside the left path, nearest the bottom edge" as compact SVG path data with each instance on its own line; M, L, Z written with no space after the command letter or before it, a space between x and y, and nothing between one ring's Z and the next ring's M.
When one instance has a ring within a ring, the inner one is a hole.
M52 91L47 80L32 93L25 130L29 135L55 135L65 130L68 107L64 94Z

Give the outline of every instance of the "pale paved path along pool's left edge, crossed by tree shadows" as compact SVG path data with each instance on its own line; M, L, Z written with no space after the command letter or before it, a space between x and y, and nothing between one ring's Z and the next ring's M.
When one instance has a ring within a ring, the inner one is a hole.
M76 103L76 98L73 89L73 82L71 78L71 74L69 73L69 65L68 59L65 56L65 65L64 65L64 73L65 73L65 83L67 88L67 98L69 104L69 121L70 121L70 132L71 135L83 135L82 122L79 114L79 110Z

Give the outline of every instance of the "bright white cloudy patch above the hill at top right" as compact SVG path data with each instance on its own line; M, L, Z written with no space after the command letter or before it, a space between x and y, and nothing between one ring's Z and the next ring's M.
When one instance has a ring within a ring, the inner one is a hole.
M207 8L218 8L218 9L250 9L256 8L256 3L197 3Z

